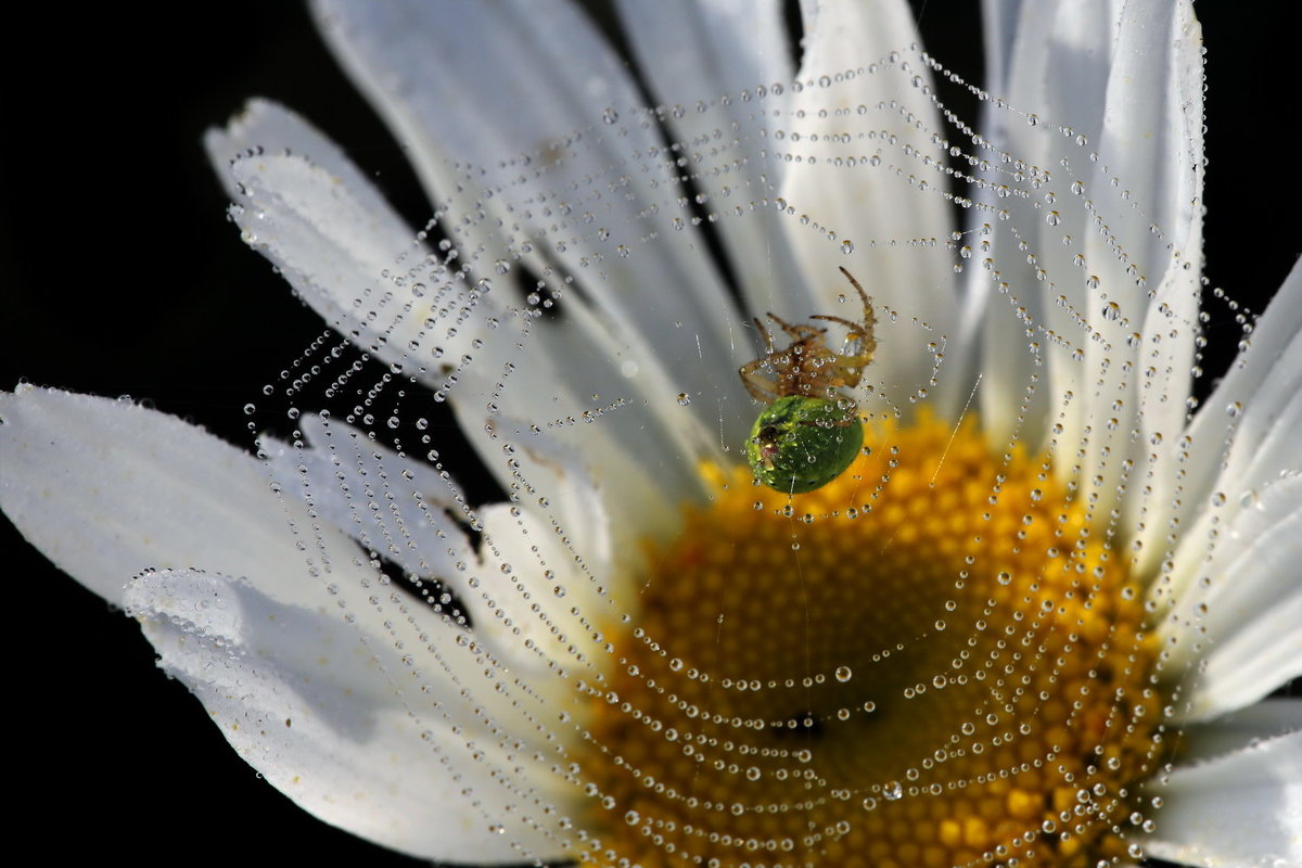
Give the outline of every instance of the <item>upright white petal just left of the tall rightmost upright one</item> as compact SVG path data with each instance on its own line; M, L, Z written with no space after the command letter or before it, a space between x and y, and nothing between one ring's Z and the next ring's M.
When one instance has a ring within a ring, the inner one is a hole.
M987 12L991 5L987 4ZM1070 260L1081 251L1066 249L1061 237L1072 236L1078 247L1087 225L1088 215L1079 206L1079 198L1069 193L1069 183L1086 170L1078 163L1088 151L1074 146L1073 139L1064 138L1056 128L1070 125L1078 134L1095 138L1104 113L1116 18L1115 4L1086 9L1066 3L1000 4L988 16L1000 31L992 61L997 78L990 87L992 96L1008 100L1010 108L987 104L983 111L982 131L992 147L974 148L974 156L992 165L978 173L991 186L978 191L976 200L983 206L978 219L990 225L991 232L966 242L976 249L975 259L982 263L980 268L967 268L966 273L969 310L978 315L984 312L980 366L986 376L980 406L993 442L1019 436L1032 448L1038 446L1047 414L1060 410L1049 406L1049 398L1070 388L1072 377L1085 376L1079 362L1069 354L1083 341L1073 314L1087 316L1082 297L1086 276ZM996 87L999 90L993 90ZM1031 128L1030 116L1042 122ZM1022 180L1004 161L1005 154L1009 160L1025 164ZM1062 159L1069 160L1074 170L1064 169ZM1061 203L1056 238L1047 232L1043 182L1030 183L1027 169L1031 167L1059 176L1049 187ZM1061 177L1064 173L1068 177ZM980 245L986 243L988 250L982 250ZM1026 243L1038 260L1044 260L1039 267L1052 282L1036 278L1021 243ZM1000 293L993 294L996 285ZM1059 307L1055 303L1059 295L1075 298L1074 308ZM1012 308L1025 310L1030 323L1010 315ZM1070 345L1056 346L1046 329L1068 338ZM1048 366L1051 383L1044 381L1043 364ZM1031 377L1036 375L1039 383L1032 384ZM1031 385L1036 388L1027 394ZM1070 413L1082 413L1079 401ZM1077 431L1073 428L1070 435Z

